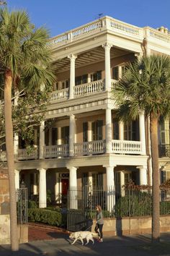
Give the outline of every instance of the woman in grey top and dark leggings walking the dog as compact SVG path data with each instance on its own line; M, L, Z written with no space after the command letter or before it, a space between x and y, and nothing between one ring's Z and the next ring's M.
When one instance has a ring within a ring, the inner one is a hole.
M103 242L103 232L102 232L103 224L104 224L104 221L103 221L102 208L100 205L97 205L97 222L94 230L97 234L99 234L99 242L101 243Z

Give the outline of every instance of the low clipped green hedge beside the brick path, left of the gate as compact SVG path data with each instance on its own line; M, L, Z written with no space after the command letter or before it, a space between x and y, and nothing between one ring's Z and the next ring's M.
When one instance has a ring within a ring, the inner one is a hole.
M53 226L61 226L62 216L55 210L46 209L28 209L28 219L29 221L47 223Z

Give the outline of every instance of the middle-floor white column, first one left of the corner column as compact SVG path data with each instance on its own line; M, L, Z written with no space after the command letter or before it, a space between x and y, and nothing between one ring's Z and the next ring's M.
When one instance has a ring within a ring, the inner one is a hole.
M75 142L75 116L71 114L69 124L69 156L74 155L74 142Z

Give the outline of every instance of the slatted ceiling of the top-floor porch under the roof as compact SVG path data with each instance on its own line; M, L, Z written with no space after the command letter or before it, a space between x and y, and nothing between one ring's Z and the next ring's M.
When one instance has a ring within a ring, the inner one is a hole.
M128 51L123 51L120 48L111 48L110 58L116 58L117 56L122 56L125 54L128 54ZM97 48L92 49L91 51L86 51L84 53L78 54L75 65L76 68L83 67L87 64L92 64L103 60L104 48L102 48L102 46L99 46ZM70 69L70 59L59 59L55 62L55 67L57 69L57 72L63 72Z

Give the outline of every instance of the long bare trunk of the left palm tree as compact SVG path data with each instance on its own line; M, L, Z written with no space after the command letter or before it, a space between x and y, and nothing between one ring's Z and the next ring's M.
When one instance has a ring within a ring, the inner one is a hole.
M12 72L5 72L4 85L4 114L5 114L5 135L6 135L6 155L9 172L9 204L10 204L10 237L12 251L19 249L17 231L17 203L14 183L14 145L13 145L13 125L12 125Z

